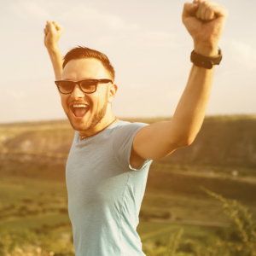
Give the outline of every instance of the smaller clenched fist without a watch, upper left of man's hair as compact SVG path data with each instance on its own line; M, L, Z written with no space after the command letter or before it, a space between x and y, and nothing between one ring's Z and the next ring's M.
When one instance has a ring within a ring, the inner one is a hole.
M47 20L44 28L44 45L46 48L56 47L63 31L64 29L60 24Z

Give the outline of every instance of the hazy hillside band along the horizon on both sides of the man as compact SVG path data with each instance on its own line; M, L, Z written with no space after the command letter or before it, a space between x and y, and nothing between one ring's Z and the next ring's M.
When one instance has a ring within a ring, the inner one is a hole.
M128 119L148 124L166 119ZM256 116L207 117L195 142L161 160L164 163L256 167ZM68 121L0 125L0 149L68 154L73 130Z

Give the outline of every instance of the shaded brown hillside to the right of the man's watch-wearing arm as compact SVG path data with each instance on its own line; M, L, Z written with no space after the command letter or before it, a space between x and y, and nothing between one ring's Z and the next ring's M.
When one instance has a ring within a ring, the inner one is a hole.
M210 166L256 166L256 118L209 118L195 142L166 158L166 162Z

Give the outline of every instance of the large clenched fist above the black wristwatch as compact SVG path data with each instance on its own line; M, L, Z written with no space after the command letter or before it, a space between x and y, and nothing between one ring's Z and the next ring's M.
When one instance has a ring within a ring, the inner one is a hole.
M205 0L185 3L183 24L194 40L195 52L200 55L218 55L218 40L224 32L228 10Z

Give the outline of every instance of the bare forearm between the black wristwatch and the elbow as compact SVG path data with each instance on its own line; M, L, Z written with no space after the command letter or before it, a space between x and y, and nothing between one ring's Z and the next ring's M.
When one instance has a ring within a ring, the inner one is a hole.
M200 131L211 94L213 71L214 67L209 70L193 65L183 96L170 122L171 143L181 146L190 144Z

